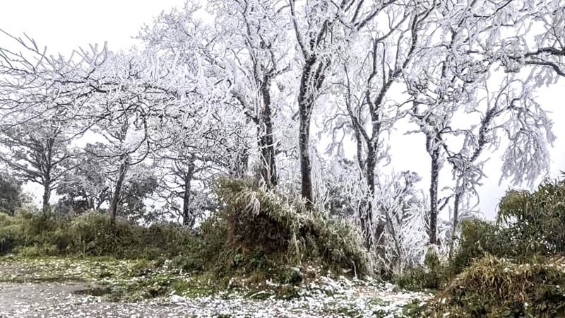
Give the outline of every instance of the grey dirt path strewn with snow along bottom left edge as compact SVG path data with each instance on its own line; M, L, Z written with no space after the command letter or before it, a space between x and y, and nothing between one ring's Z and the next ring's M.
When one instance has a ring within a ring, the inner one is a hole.
M0 283L0 317L340 317L270 300L180 298L108 302L76 295L86 283ZM309 313L310 310L316 312Z

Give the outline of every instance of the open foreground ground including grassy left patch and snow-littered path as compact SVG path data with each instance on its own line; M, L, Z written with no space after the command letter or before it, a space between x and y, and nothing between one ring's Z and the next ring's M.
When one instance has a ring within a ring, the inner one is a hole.
M429 297L386 283L322 277L304 284L292 300L266 292L258 297L261 291L109 300L110 287L145 279L131 276L137 267L126 261L0 259L0 317L405 317L405 305ZM147 276L152 274L162 275Z

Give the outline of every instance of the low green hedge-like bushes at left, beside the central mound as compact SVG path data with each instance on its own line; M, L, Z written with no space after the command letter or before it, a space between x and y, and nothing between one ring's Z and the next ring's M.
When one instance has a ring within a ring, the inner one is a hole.
M74 218L20 210L0 213L0 254L29 257L56 255L114 257L174 257L194 244L190 230L173 223L148 227L88 212Z

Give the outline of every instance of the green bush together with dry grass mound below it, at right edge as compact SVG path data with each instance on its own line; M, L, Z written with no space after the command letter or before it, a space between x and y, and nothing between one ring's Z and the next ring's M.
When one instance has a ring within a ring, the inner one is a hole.
M510 191L496 223L465 220L428 316L561 317L565 314L565 182ZM420 284L422 285L422 284Z

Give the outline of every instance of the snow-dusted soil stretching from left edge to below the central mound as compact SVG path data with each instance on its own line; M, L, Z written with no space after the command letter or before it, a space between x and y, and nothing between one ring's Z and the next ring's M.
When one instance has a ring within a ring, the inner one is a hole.
M430 295L398 290L377 281L321 277L304 284L299 297L281 300L237 293L182 297L167 295L139 302L112 302L84 290L101 287L91 280L42 281L30 268L0 266L0 317L406 317L408 303ZM7 272L8 271L8 272ZM14 274L17 272L17 274ZM23 273L27 274L23 275ZM23 279L22 279L23 278ZM31 278L31 279L29 279ZM261 293L261 292L259 292ZM256 295L257 296L257 295ZM260 295L259 295L260 296Z

